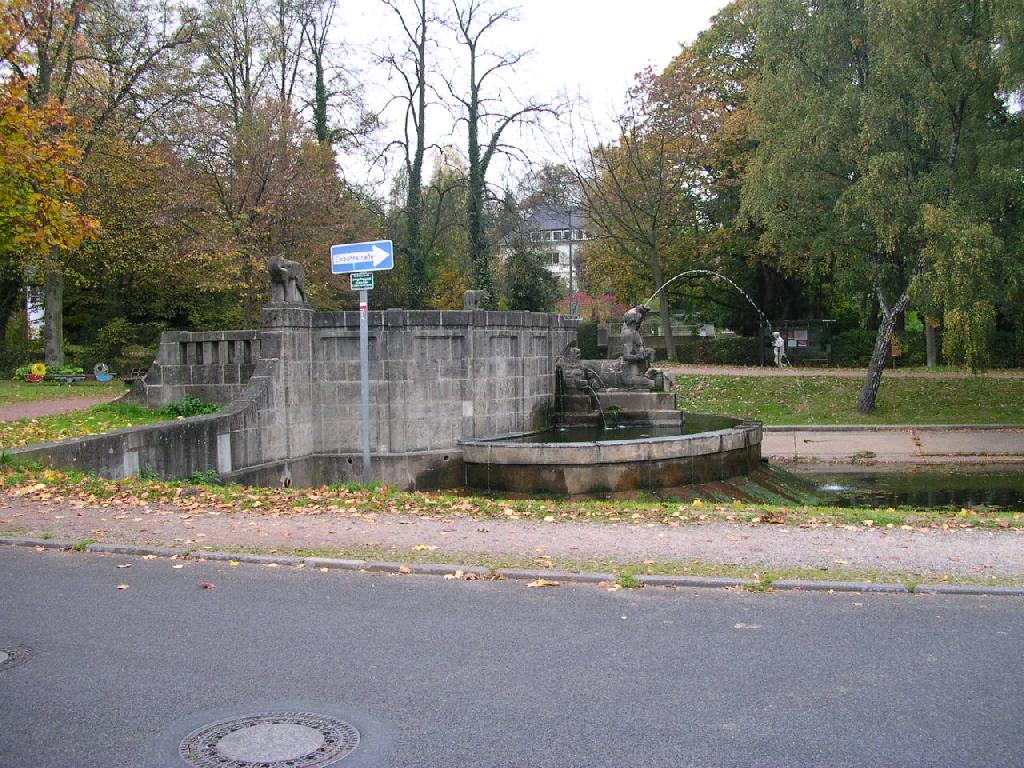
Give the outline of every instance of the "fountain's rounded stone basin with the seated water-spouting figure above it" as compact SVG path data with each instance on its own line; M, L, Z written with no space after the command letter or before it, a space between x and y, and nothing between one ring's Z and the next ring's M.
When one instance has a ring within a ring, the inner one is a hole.
M761 463L761 423L678 411L671 382L650 365L653 350L640 336L647 311L641 304L626 312L617 360L581 359L574 344L562 351L554 427L460 440L467 484L594 494L714 482L754 471Z

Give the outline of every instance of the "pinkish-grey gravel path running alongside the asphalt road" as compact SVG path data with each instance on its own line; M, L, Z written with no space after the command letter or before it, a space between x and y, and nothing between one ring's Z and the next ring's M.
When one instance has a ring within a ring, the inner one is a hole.
M738 522L544 522L472 519L458 511L436 517L329 512L224 511L168 505L69 506L45 498L0 495L0 531L55 540L211 549L359 550L373 547L388 559L419 549L435 556L513 557L545 566L545 558L638 563L703 562L821 571L916 573L973 579L1024 578L1024 529L868 528L815 524ZM695 514L694 510L687 510ZM392 555L387 555L393 552Z

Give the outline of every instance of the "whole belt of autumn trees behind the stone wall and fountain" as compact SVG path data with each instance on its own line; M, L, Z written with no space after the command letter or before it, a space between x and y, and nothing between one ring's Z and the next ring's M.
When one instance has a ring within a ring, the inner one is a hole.
M51 362L65 328L91 362L164 328L252 326L279 253L317 306L347 307L328 246L379 237L399 258L375 304L455 308L483 288L550 308L550 257L522 237L546 207L582 209L596 237L573 249L574 288L608 306L709 269L772 321L873 337L865 411L900 335L973 370L1010 334L1024 355L1019 3L734 0L637 76L612 135L504 195L496 159L553 112L516 93L511 7L380 11L400 31L376 58L395 125L364 108L338 0L0 0L0 326L28 288ZM390 194L339 172L364 153L394 161ZM673 314L761 323L707 275L654 301L670 351Z

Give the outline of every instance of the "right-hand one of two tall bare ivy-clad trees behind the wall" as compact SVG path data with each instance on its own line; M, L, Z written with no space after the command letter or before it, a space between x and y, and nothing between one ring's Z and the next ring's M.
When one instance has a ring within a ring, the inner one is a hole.
M469 162L466 225L469 233L469 260L473 266L473 285L495 296L490 253L484 231L483 203L486 197L487 170L495 156L516 153L503 141L508 128L516 123L555 114L549 103L528 100L506 109L501 94L503 75L509 74L526 55L525 51L497 52L484 45L484 37L505 22L515 22L512 8L492 9L487 0L454 0L454 31L465 49L468 68L466 89L447 78L452 96L461 108L459 120L466 122L466 157ZM506 89L507 90L507 89Z

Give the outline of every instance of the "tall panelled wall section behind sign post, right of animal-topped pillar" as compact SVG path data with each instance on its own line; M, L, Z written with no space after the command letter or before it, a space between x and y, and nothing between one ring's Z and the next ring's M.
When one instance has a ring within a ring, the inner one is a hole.
M316 453L359 451L358 312L313 315ZM370 312L374 454L455 447L539 429L554 406L555 358L575 321L534 312Z

